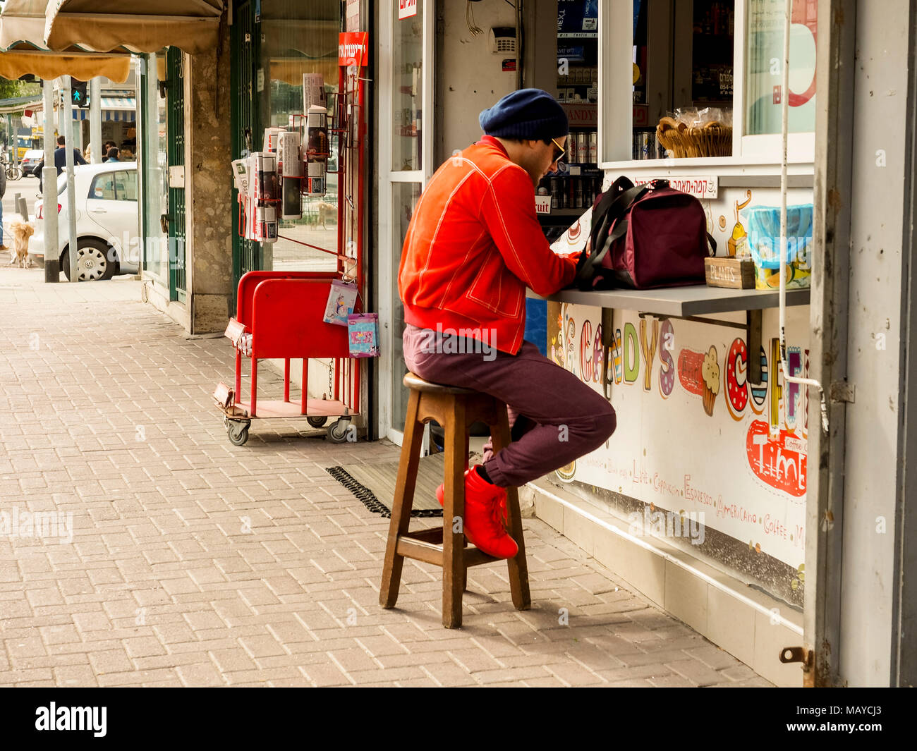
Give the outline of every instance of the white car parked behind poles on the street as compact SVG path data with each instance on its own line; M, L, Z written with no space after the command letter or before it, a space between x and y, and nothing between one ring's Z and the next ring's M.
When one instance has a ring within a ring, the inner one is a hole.
M106 161L73 168L76 195L76 248L79 280L111 279L140 268L140 222L137 162ZM58 176L58 249L61 271L70 280L70 232L67 218L67 173ZM44 262L44 205L35 202L35 235L29 252Z

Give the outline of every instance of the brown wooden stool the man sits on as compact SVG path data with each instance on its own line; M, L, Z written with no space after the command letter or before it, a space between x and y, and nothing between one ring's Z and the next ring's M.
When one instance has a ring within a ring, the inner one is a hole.
M472 423L479 420L490 425L493 450L499 451L510 441L506 405L485 393L429 383L414 373L404 376L404 385L411 393L404 419L404 442L392 502L392 522L389 525L388 545L385 548L379 603L383 608L393 608L398 600L404 558L435 563L443 569L443 625L446 628L458 628L461 626L461 597L466 588L468 567L500 560L488 556L477 547L468 549L465 536L460 531L455 531L457 527L461 527L453 524L456 517L465 517L468 429ZM436 420L446 431L443 526L441 529L409 532L421 438L424 423L429 420ZM516 610L528 610L532 601L528 591L522 514L519 513L519 497L515 488L506 489L506 514L509 534L519 546L515 558L507 560L513 604Z

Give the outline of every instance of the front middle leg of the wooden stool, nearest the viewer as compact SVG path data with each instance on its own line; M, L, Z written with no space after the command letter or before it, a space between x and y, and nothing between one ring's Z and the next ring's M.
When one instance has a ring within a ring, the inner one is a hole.
M443 499L443 625L461 627L461 595L465 590L465 536L455 532L454 519L465 520L465 402L453 397L447 412L446 481ZM467 456L467 454L465 455Z

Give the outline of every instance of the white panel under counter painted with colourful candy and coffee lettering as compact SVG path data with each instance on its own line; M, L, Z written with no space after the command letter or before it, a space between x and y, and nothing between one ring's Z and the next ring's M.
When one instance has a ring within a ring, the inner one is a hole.
M788 312L788 363L808 375L808 309ZM744 317L744 316L743 316ZM561 480L622 493L705 524L796 569L804 557L807 393L784 384L777 312L749 352L742 329L614 311L607 356L600 308L548 304L548 354L610 395L618 428ZM760 383L748 380L759 359Z

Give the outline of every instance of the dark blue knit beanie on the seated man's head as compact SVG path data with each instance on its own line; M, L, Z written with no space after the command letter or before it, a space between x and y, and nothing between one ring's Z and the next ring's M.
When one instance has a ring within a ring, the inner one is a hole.
M541 140L566 136L567 113L541 89L520 89L506 94L478 116L481 130L498 138Z

